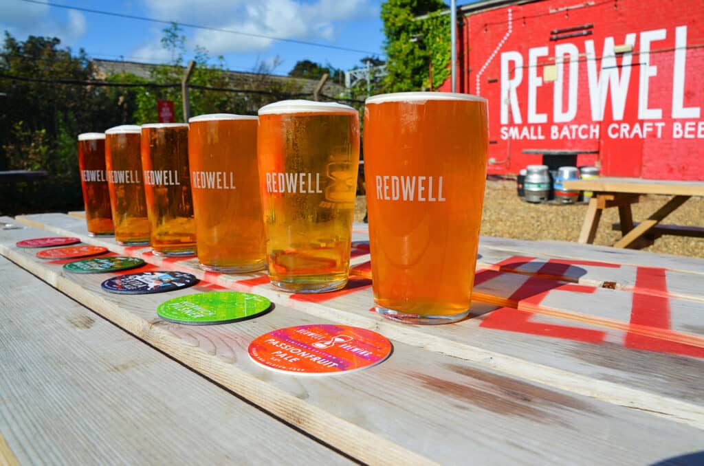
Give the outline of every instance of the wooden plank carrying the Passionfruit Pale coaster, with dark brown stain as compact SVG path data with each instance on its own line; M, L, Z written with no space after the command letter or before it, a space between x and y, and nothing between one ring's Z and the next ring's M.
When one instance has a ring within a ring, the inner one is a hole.
M311 320L309 315L277 306L272 313L230 325L170 324L154 313L164 296L105 294L99 289L104 277L63 275L60 265L38 262L32 251L3 246L2 252L256 405L307 432L320 434L343 451L358 451L354 456L362 461L405 464L429 458L445 463L472 458L482 463L534 463L546 458L555 462L589 458L592 464L642 464L691 451L700 444L700 429L686 424L704 427L704 413L691 403L662 398L648 403L649 410L658 413L686 406L689 421L672 422L644 410L507 377L400 341L394 341L394 355L386 363L340 377L269 372L246 356L246 346L253 337L273 328L328 321ZM168 297L187 293L181 290ZM515 364L524 362L516 360ZM626 387L623 390L632 403L634 392ZM470 423L481 425L482 432L465 429ZM520 435L520 443L507 441L514 434ZM400 452L394 442L425 458L409 456L408 452L401 455L403 450Z

